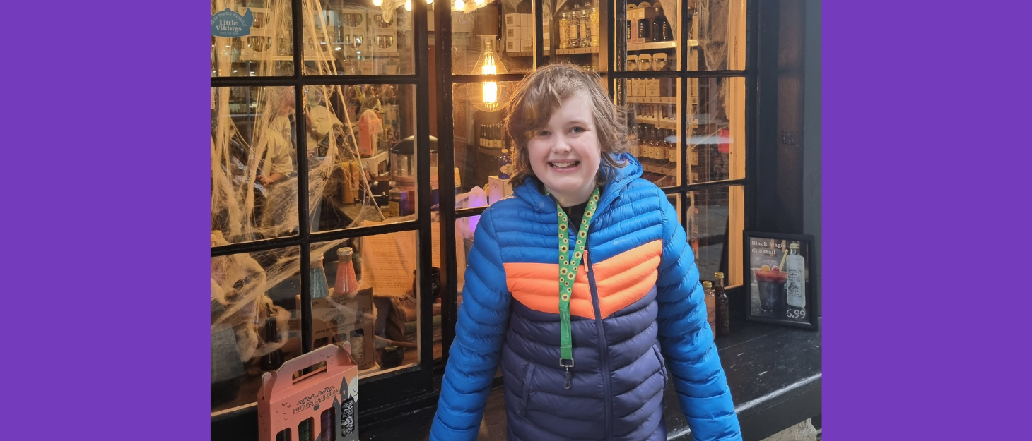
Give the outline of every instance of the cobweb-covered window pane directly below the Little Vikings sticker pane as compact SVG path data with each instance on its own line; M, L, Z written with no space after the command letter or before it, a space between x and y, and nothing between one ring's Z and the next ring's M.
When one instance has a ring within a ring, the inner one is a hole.
M212 88L212 234L297 234L293 88ZM214 245L213 245L214 246Z

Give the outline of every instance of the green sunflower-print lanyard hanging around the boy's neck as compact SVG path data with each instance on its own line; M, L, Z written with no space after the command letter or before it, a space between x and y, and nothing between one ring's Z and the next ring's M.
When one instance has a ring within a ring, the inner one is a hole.
M570 368L574 367L573 342L570 337L570 296L574 290L574 280L577 279L577 269L580 267L581 258L586 255L584 246L587 244L587 229L598 206L599 188L596 186L587 200L584 219L581 220L580 229L577 232L577 245L574 248L573 259L570 259L570 220L559 203L555 203L555 209L559 213L559 367L567 370L566 388L570 388ZM586 270L590 271L590 269Z

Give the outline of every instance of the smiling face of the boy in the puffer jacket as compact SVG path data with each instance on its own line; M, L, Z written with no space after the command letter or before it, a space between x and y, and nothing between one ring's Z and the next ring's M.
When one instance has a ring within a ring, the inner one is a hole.
M563 206L587 201L595 186L602 147L592 114L587 92L578 92L527 140L530 169Z

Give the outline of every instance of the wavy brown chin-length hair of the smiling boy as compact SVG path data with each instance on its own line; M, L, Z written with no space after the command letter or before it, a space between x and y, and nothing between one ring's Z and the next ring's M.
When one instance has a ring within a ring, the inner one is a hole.
M559 108L562 100L583 91L591 101L595 133L602 149L602 163L595 178L607 182L610 170L626 165L613 159L612 155L627 150L626 109L613 104L602 88L598 73L583 71L572 64L552 64L538 69L516 86L509 105L506 107L505 128L516 144L512 175L513 188L534 176L530 159L526 151L527 140L548 124L552 111Z

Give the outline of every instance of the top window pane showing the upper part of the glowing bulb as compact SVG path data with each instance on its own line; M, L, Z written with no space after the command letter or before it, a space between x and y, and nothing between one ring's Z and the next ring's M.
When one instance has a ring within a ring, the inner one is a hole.
M527 73L534 68L530 0L459 0L452 10L452 75Z

